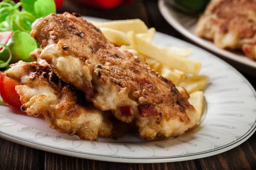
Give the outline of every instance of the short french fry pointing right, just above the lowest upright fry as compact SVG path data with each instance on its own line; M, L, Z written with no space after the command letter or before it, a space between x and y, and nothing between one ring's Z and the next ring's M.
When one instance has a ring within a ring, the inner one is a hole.
M207 85L209 77L207 76L192 76L187 79L181 80L176 85L184 87L186 91L191 94L192 92L204 89Z

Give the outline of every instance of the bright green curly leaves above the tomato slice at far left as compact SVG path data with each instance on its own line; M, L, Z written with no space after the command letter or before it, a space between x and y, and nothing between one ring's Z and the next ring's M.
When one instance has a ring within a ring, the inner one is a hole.
M23 9L20 11L19 7ZM31 31L32 23L40 17L55 13L54 0L21 0L15 4L11 0L0 3L0 31Z

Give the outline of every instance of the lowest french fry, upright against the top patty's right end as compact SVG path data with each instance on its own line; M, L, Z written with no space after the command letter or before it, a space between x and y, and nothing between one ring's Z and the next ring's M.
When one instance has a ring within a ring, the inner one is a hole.
M204 92L203 91L195 91L189 95L189 103L194 106L197 111L197 121L200 122L202 113L203 113L203 105L204 105Z

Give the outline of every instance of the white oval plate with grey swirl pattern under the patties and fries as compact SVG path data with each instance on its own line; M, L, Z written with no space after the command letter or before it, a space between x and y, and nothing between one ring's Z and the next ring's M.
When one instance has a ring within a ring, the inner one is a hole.
M88 18L88 20L91 18ZM193 48L189 58L203 63L208 75L204 121L177 138L144 140L128 134L119 140L99 138L83 141L49 128L44 118L0 105L0 137L19 144L85 159L156 163L212 156L238 146L256 127L256 93L250 83L230 65L214 55L165 34L156 33L154 43Z

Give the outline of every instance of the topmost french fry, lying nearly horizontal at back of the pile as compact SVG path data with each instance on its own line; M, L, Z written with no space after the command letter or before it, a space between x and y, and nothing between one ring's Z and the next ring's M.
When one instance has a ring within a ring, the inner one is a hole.
M142 20L116 20L107 22L91 22L96 27L112 28L117 31L128 32L134 31L135 33L145 33L148 31L148 27Z

